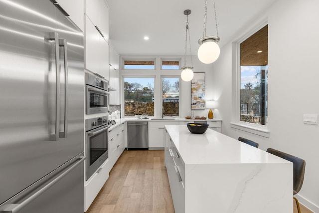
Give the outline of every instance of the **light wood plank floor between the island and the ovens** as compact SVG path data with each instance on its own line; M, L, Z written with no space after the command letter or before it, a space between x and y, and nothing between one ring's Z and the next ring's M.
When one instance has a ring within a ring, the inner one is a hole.
M87 213L174 213L164 151L124 151Z

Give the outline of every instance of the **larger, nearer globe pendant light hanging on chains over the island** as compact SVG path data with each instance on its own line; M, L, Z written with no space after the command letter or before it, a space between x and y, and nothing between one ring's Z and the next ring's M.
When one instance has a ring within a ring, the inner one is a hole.
M214 1L214 12L215 12L217 36L206 36L207 0L205 0L204 32L203 32L203 37L198 40L198 43L200 44L200 46L197 51L197 56L198 56L198 59L205 64L213 63L214 61L217 60L220 54L220 48L217 44L220 38L218 37L216 6L215 6L215 0L213 1Z

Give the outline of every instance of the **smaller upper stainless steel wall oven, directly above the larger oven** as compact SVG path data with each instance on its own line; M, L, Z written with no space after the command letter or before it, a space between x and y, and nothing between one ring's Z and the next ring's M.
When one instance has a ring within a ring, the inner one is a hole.
M85 73L86 114L109 112L108 81Z

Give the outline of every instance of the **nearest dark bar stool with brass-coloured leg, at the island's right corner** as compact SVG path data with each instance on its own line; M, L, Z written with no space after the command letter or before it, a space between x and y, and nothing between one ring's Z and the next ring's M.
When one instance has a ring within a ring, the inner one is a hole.
M294 164L294 195L296 195L301 190L301 187L303 186L304 177L305 177L306 161L301 159L301 158L298 158L296 156L289 155L287 153L284 153L284 152L281 152L281 151L278 151L278 150L275 150L272 148L268 148L266 152L269 152L273 155L276 155L278 157L286 159L287 161L293 162L293 164ZM294 199L296 201L298 213L301 213L299 201L295 197L294 197Z

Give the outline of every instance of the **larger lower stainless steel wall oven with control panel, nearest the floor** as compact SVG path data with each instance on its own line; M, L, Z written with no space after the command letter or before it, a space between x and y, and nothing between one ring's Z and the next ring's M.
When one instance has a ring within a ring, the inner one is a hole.
M108 159L108 116L85 120L86 180Z

